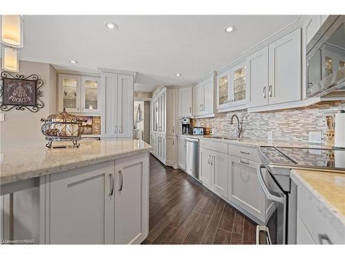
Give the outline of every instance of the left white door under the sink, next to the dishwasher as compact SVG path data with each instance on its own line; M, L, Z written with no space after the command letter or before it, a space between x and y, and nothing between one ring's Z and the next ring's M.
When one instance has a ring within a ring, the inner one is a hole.
M199 149L199 173L201 182L208 188L212 187L212 151L206 148Z

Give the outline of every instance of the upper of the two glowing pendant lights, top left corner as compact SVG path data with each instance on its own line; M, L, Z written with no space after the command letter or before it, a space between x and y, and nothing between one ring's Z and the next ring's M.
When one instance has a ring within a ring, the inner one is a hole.
M1 43L23 48L23 20L20 15L1 15Z

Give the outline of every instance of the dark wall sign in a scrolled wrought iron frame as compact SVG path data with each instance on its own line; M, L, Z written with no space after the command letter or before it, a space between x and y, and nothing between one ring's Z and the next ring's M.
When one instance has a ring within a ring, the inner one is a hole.
M12 108L24 111L26 108L37 113L44 104L41 88L44 81L38 75L12 75L6 71L0 74L0 109L10 111Z

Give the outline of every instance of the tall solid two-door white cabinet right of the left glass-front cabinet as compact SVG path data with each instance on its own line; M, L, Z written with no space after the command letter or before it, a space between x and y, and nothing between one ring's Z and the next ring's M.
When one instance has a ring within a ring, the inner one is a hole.
M132 138L133 75L101 73L101 137Z

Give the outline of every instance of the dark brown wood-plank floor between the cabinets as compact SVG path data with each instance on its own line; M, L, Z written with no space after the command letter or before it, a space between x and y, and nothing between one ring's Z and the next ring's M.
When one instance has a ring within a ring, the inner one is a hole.
M150 155L150 232L143 244L255 244L256 224Z

